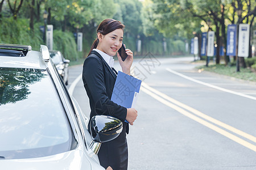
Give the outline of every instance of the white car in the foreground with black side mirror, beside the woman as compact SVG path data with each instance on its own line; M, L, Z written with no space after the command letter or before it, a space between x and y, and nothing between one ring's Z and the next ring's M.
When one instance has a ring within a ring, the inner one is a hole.
M0 169L104 169L100 142L122 131L110 116L88 123L44 45L0 44L0 113Z

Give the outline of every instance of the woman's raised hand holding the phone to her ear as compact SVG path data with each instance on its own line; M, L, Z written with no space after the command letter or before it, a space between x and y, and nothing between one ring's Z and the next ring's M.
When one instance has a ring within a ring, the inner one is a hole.
M125 74L131 75L131 65L133 64L133 52L130 49L125 49L126 54L128 55L125 61L122 61L121 56L117 53L117 58L122 67L122 71Z

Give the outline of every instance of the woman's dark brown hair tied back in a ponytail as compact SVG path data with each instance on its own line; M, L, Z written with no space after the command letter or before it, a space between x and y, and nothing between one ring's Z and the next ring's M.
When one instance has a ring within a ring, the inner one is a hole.
M114 20L114 19L104 19L100 25L98 25L97 28L97 33L100 32L102 35L107 35L108 33L115 31L115 29L124 29L125 25L123 25L121 22L119 22L119 20ZM90 52L92 52L92 50L94 48L97 48L98 46L98 37L96 40L94 40L92 47L90 48ZM89 54L90 54L89 52ZM88 54L88 56L89 56Z

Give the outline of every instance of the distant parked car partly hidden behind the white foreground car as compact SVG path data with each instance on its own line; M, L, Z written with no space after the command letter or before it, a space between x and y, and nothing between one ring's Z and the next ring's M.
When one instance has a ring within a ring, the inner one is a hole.
M60 51L50 50L49 54L64 83L68 85L68 65L70 61L65 59Z

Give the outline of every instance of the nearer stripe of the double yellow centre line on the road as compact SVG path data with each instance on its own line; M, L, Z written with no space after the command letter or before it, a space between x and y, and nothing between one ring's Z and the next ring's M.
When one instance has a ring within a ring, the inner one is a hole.
M245 146L245 147L249 148L250 150L253 150L253 151L256 152L256 146L255 145L237 137L236 135L233 135L233 134L229 133L228 131L225 131L221 128L218 128L217 126L215 126L213 124L210 124L209 122L207 122L207 121L205 121L205 120L203 120L203 119L185 111L184 109L182 109L180 107L177 107L176 105L170 103L167 100L164 100L162 97L154 94L153 92L151 92L150 90L147 90L144 87L141 87L141 90L143 92L145 92L146 94L150 95L151 97L153 97L154 99L156 99L156 100L160 101L161 103L167 105L168 107L170 107L172 109L175 109L177 112L183 114L184 116L187 116L187 117L191 118L192 120L194 120L196 122L199 122L200 124L206 126L207 128L210 128L210 129L216 131L217 133L220 133L220 134L224 135L225 137L227 137L229 139L232 139L232 141L237 142L240 145Z

